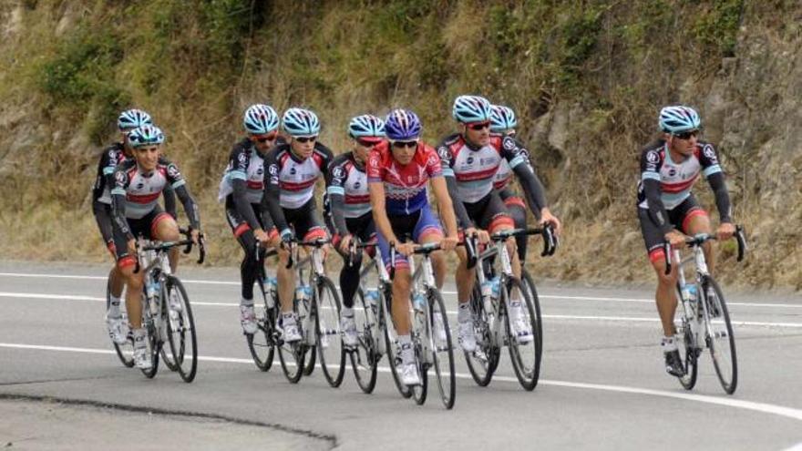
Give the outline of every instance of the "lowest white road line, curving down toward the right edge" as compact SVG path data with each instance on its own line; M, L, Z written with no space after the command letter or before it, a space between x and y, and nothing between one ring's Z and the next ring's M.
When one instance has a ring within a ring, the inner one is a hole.
M37 351L55 351L63 353L115 354L115 352L110 349L107 350L107 349L77 348L77 347L67 347L67 346L47 346L47 345L23 344L23 343L0 343L0 348L28 349ZM253 364L252 361L249 359L238 359L230 357L199 356L198 360L206 362L221 362L230 364ZM388 373L390 371L389 367L379 367L378 369L381 370L382 373ZM458 373L456 374L456 376L460 379L471 379L470 374ZM507 376L495 376L493 380L516 383L516 384L518 383L518 379L516 379L515 377L507 377ZM653 390L649 388L639 388L625 385L586 384L581 382L551 381L544 379L540 379L539 384L566 387L566 388L578 388L585 390L602 390L606 392L626 393L631 395L647 395L647 396L659 396L664 398L681 399L684 401L693 401L696 403L723 405L725 407L751 410L763 414L785 416L787 418L791 418L797 421L802 421L802 409L796 409L784 405L773 405L766 403L758 403L754 401L745 401L741 399L734 399L731 397L694 395L690 393L668 392L663 390ZM798 451L798 449L802 449L798 448L798 446L800 445L797 445L789 449Z

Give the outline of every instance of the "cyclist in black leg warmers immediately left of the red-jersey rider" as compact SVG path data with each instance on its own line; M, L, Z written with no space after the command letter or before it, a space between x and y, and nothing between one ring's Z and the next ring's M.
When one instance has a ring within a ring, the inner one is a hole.
M343 310L340 313L340 330L343 344L357 344L354 320L354 294L359 286L362 251L355 252L348 264L348 246L352 236L364 242L375 240L375 225L370 209L365 163L371 149L385 138L385 122L371 115L357 116L348 124L351 151L337 156L326 179L327 214L329 230L334 232L333 243L344 256L340 272L340 290L343 293Z

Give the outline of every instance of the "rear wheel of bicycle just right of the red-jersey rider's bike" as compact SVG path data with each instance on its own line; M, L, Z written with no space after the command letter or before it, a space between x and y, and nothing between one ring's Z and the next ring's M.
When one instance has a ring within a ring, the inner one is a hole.
M491 332L488 328L488 313L485 312L481 290L478 286L474 286L473 292L471 292L470 309L473 315L474 332L477 336L477 351L480 351L481 354L477 354L476 351L473 353L463 351L463 354L465 354L465 363L468 364L468 373L478 386L484 387L488 386L493 379L493 374L499 365L501 350L499 347L493 346Z

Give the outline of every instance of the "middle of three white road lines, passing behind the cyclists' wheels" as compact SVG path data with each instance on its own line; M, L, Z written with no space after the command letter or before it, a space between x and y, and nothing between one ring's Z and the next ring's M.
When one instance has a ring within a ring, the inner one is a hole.
M106 298L94 296L78 296L71 294L47 294L35 292L0 292L0 298L24 298L24 299L46 299L62 301L90 301L106 302ZM192 305L214 306L214 307L239 307L235 302L192 302ZM325 307L324 307L325 308ZM456 315L456 311L447 311L450 315ZM595 321L595 322L626 322L626 323L659 323L656 317L639 316L591 316L591 315L570 315L570 314L544 314L543 318L550 320L569 320L569 321ZM734 321L737 326L759 326L759 327L783 327L783 328L802 328L802 323L767 323L758 321Z

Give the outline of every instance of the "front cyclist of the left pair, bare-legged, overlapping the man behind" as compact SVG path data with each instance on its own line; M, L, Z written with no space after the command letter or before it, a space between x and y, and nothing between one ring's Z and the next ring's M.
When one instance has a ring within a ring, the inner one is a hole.
M134 338L134 363L142 369L151 367L147 352L147 332L142 327L141 294L144 272L134 272L137 263L135 238L142 236L159 241L178 241L176 221L161 210L157 199L170 184L190 219L192 241L200 236L200 216L195 201L187 190L178 167L159 158L164 135L155 126L144 125L129 134L133 159L127 159L114 170L111 205L114 224L114 245L119 271L128 285L126 308ZM173 260L173 258L176 260ZM172 271L177 269L178 255L170 255Z

